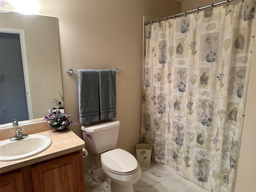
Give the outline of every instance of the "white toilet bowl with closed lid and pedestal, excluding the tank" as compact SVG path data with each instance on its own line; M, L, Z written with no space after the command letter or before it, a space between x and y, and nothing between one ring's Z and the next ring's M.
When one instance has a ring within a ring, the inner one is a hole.
M104 192L134 192L133 184L141 176L140 165L132 154L122 149L113 149L101 154L105 175Z

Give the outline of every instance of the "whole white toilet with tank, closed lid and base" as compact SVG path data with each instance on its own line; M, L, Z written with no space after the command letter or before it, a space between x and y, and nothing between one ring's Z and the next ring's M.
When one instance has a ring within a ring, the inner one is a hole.
M104 121L81 126L86 150L100 154L105 176L104 192L134 192L141 176L140 165L129 152L116 148L120 122Z

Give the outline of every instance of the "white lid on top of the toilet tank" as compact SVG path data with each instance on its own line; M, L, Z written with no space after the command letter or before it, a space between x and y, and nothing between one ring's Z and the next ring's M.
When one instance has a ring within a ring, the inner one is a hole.
M119 121L108 120L108 121L104 121L104 122L97 122L92 125L83 125L83 126L81 126L81 129L83 131L92 133L92 132L97 132L97 131L105 130L105 129L116 127L116 126L120 126Z

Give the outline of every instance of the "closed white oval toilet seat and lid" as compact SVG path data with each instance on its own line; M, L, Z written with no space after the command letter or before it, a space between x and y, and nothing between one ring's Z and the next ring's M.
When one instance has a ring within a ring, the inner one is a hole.
M101 154L102 166L110 172L128 175L138 170L136 158L122 149L113 149Z

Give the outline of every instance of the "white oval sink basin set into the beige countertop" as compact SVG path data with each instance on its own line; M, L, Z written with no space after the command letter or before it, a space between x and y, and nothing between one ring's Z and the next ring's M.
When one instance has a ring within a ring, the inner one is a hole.
M36 155L46 150L52 141L44 135L28 135L27 138L0 142L0 161L14 161Z

